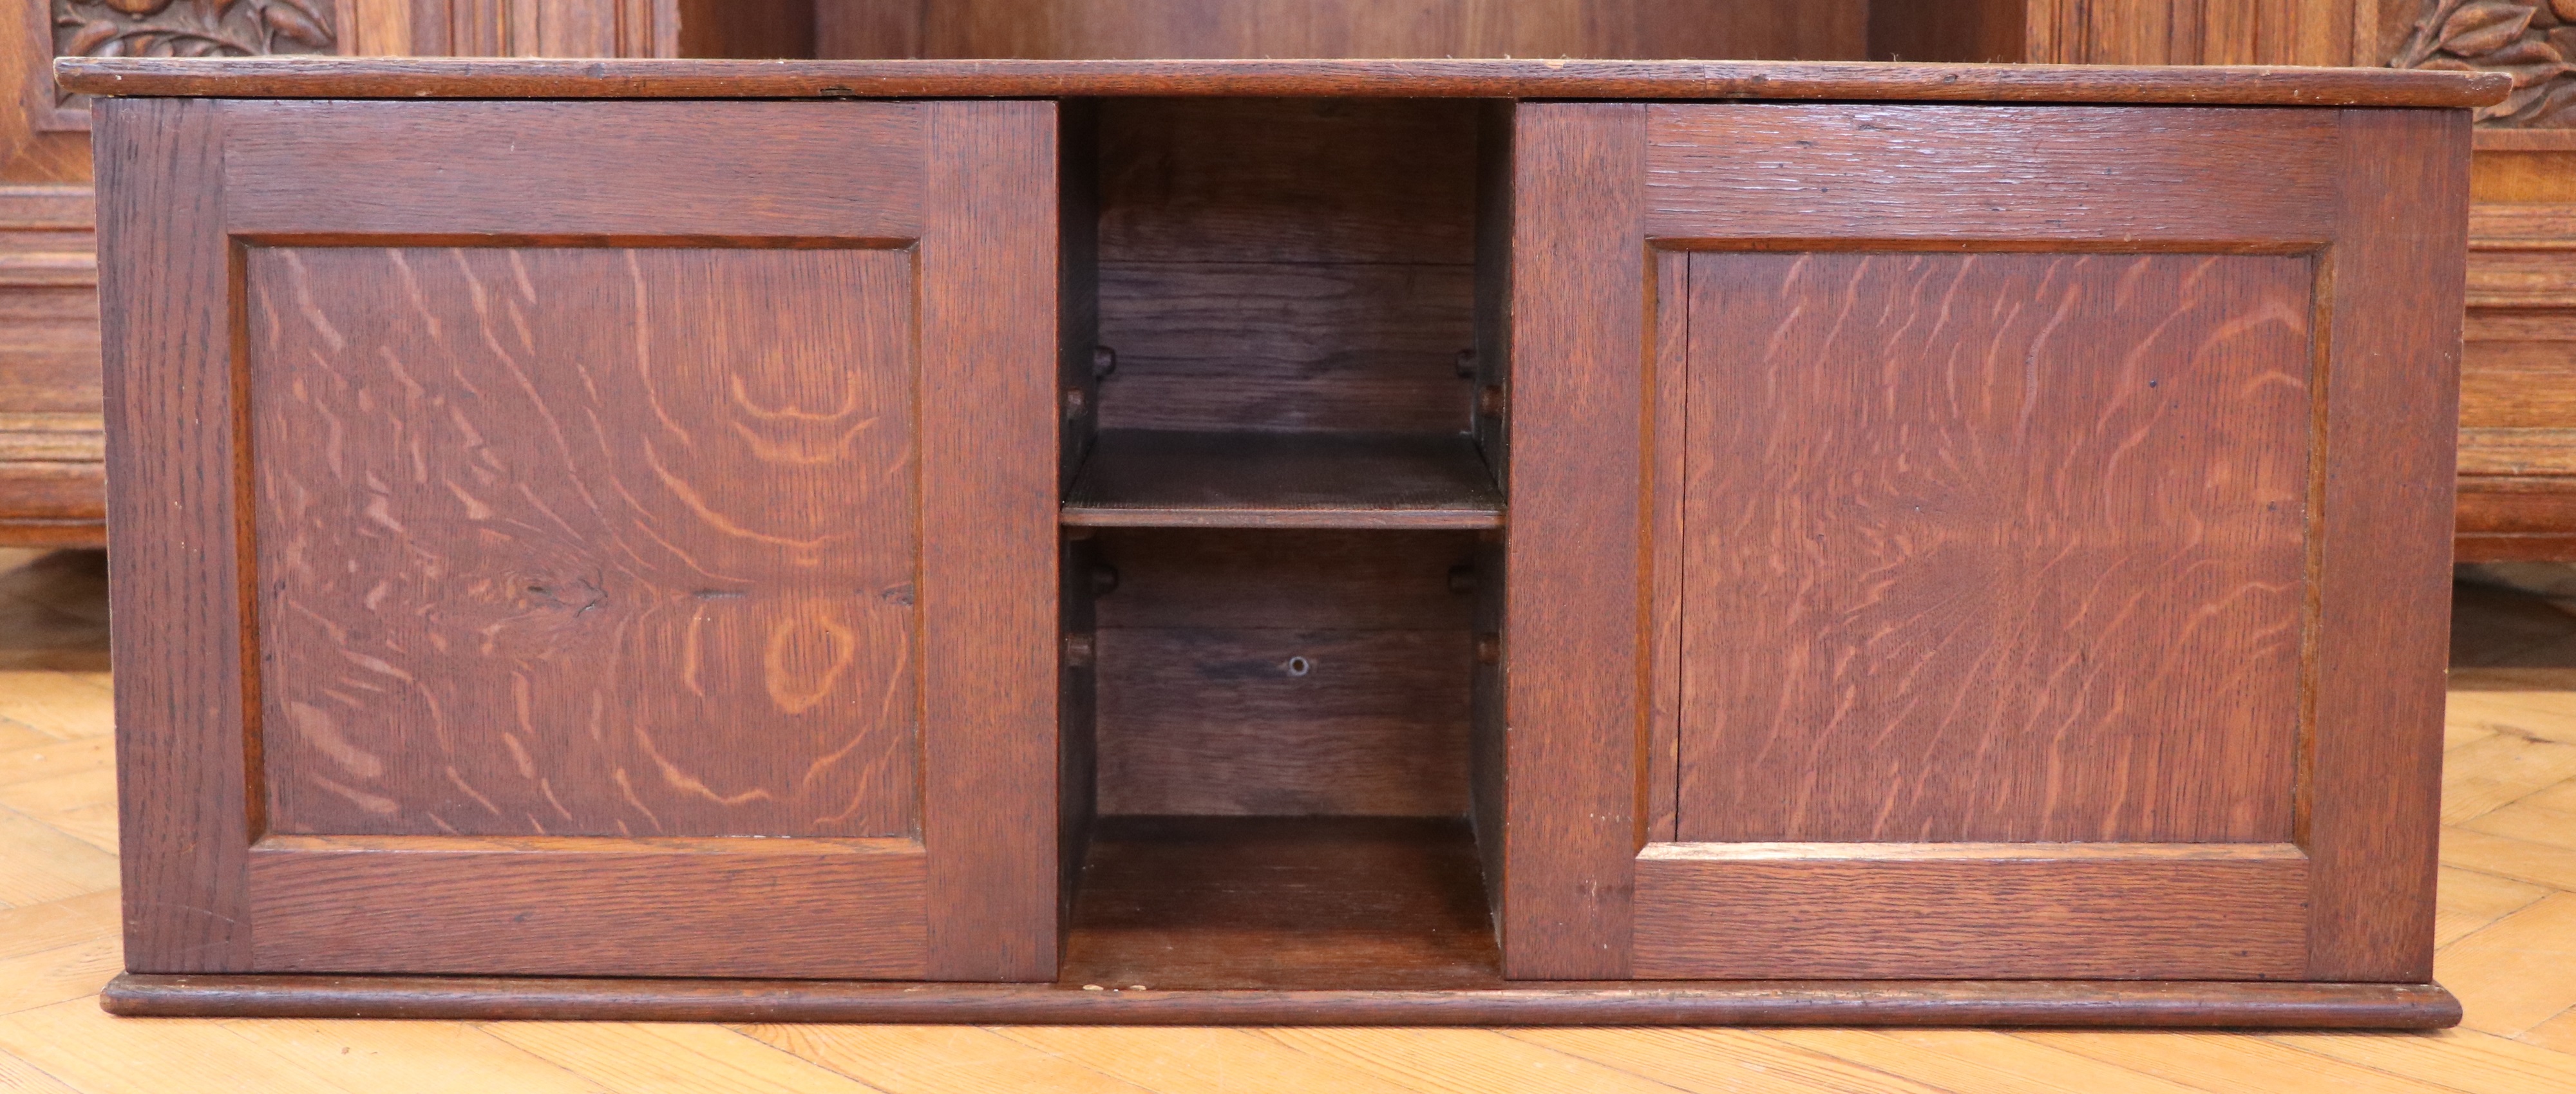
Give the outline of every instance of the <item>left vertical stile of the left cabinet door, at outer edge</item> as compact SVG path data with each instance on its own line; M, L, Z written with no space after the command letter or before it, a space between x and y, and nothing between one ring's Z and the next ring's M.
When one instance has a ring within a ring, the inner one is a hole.
M103 100L108 610L126 968L250 968L255 698L222 103Z

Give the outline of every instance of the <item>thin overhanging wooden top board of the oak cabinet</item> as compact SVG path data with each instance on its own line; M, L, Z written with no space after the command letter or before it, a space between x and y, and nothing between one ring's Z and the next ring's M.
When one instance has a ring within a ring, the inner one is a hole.
M1922 103L2488 106L2504 72L1896 62L732 62L64 57L64 90L206 98L1839 98Z

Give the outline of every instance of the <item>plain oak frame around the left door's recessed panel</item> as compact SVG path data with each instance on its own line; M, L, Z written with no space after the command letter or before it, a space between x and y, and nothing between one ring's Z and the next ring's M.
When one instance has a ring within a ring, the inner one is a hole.
M1043 100L103 100L126 968L1051 981L1056 152ZM268 837L245 247L621 239L914 255L917 839L840 839L819 870L814 839ZM659 893L696 901L634 916L665 873L701 878ZM474 901L422 901L417 878ZM744 878L773 896L724 891ZM781 929L791 906L814 922ZM513 934L515 911L567 909L618 968ZM737 952L762 929L804 937ZM379 942L440 932L484 955Z

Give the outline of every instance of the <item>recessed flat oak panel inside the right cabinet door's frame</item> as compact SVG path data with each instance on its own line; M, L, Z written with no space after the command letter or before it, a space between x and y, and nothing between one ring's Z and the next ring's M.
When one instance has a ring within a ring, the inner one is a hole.
M1677 837L2290 839L2311 293L2306 257L1698 255Z

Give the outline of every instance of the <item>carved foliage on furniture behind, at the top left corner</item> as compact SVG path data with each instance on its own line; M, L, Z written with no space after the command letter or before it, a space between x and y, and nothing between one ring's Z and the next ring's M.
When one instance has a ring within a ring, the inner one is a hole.
M332 51L330 0L52 0L54 57Z

